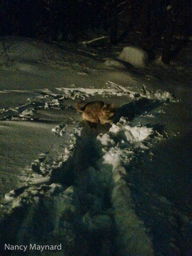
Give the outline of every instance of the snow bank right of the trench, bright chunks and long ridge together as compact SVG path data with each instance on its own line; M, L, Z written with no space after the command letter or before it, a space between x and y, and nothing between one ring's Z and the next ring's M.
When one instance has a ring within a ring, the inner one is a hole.
M107 134L99 134L97 139L101 142L103 164L112 166L113 187L111 203L117 228L116 245L122 256L153 256L153 248L145 226L134 211L131 192L125 177L131 161L136 160L135 149L138 143L153 133L152 128L146 126L128 125L125 118L113 124ZM140 144L141 146L142 144ZM148 149L148 147L142 147Z

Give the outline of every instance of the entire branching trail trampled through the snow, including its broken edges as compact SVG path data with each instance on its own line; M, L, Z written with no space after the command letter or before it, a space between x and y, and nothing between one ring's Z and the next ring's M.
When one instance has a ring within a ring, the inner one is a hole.
M141 156L150 160L151 147L165 140L167 134L158 130L157 125L133 125L130 121L175 99L167 92L155 96L146 88L141 93L113 86L115 90L104 90L102 95L125 93L131 102L119 107L116 122L109 131L93 132L73 120L58 125L53 132L63 137L64 143L54 145L47 154L40 154L23 170L23 186L5 195L1 202L1 247L4 243L49 241L49 244L61 243L61 255L66 256L161 255L154 253L154 240L151 240L154 233L135 212L130 180L140 166ZM41 93L44 95L29 100L29 104L2 110L2 119L33 120L39 109L73 110L65 105L66 99L89 99L99 90L63 88ZM170 204L158 195L154 197L161 202L160 209ZM171 204L169 208L170 218L173 214L183 218ZM185 222L188 223L187 218ZM157 236L155 239L158 240ZM163 248L163 252L167 253L169 239L164 242L167 249ZM27 250L25 255L33 256L36 252Z

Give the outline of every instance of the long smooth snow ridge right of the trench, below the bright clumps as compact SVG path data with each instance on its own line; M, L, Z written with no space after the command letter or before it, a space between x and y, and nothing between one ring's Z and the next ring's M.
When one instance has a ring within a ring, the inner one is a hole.
M122 256L153 256L152 242L142 221L134 211L131 192L124 179L125 167L120 165L119 156L113 161L112 205L117 226L117 247ZM118 178L116 178L118 177Z

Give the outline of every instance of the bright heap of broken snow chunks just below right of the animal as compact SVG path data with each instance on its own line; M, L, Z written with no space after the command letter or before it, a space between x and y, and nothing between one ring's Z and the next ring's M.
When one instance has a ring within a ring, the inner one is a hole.
M101 142L105 163L116 165L114 161L118 159L119 164L127 165L130 161L137 159L136 148L145 152L149 147L143 141L153 134L153 128L146 126L131 127L129 122L121 117L118 123L113 124L106 134L99 134L97 140Z

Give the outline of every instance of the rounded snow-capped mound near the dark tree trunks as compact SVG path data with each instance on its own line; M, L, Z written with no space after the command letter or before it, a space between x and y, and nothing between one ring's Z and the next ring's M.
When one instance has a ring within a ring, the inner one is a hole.
M148 53L134 46L124 47L117 58L130 63L134 67L145 67L148 64Z

